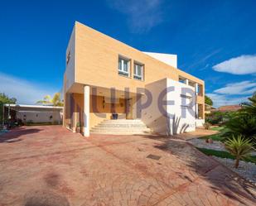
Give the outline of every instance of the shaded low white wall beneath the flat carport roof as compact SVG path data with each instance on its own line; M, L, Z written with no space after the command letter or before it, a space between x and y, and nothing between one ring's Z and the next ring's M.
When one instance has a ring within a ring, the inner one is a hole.
M52 118L51 118L52 117ZM60 112L17 112L17 118L22 122L62 122Z

